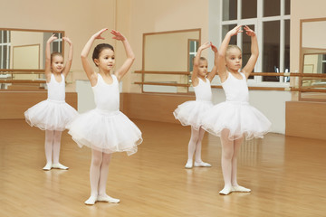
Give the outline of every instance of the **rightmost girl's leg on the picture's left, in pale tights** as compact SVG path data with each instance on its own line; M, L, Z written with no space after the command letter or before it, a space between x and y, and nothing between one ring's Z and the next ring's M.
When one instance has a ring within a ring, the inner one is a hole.
M229 130L224 129L221 133L222 143L222 172L225 186L219 193L229 194L232 192L231 175L232 175L232 158L234 156L234 141L228 138Z

